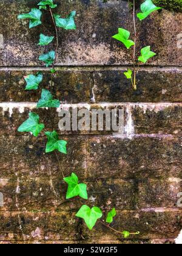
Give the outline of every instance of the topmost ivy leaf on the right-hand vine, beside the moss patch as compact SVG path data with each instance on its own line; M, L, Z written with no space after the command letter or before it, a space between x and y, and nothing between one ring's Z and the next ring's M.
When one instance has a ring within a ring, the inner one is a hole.
M144 20L147 18L147 16L150 15L150 13L154 12L155 10L160 10L161 7L157 7L155 4L153 4L152 0L146 0L141 4L141 13L137 14L137 17L139 20Z

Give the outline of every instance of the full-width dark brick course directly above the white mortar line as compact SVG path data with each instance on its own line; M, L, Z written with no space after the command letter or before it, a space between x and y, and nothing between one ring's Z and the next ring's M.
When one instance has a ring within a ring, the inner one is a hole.
M36 74L31 70L0 71L0 102L37 102L41 90L25 91L24 76ZM133 90L124 76L126 68L113 69L59 69L50 88L51 74L44 76L39 88L51 89L61 102L181 102L182 72L180 68L139 69L137 90ZM16 93L15 93L16 92Z

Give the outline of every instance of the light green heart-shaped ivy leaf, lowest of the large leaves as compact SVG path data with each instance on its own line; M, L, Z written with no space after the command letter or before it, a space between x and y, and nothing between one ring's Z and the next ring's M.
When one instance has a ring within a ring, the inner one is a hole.
M103 212L98 207L93 207L90 209L89 206L83 205L78 213L76 213L76 217L84 219L90 230L96 224L96 221L103 216Z

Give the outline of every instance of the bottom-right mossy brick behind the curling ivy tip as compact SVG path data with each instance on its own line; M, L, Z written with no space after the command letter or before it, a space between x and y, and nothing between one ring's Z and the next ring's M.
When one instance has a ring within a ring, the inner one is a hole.
M116 230L140 231L140 235L130 239L168 239L177 237L181 230L181 212L117 212L115 220L110 225ZM104 219L104 218L103 218ZM96 232L95 232L96 230ZM98 221L95 228L89 231L83 223L83 236L86 239L121 239L120 233L115 233Z

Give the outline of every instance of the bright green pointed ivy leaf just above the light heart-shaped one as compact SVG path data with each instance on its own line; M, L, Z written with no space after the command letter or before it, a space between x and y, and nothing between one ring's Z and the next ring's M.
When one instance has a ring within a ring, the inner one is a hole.
M75 196L80 196L83 199L88 199L87 185L84 183L78 184L78 177L75 173L72 173L72 176L70 177L64 178L64 181L69 185L66 194L66 199L70 199Z

